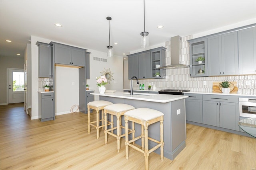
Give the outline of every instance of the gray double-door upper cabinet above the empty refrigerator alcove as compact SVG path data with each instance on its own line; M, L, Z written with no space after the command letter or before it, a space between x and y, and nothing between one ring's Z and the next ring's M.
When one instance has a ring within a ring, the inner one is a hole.
M85 66L86 49L80 49L54 42L51 42L50 45L53 46L55 63L74 66Z

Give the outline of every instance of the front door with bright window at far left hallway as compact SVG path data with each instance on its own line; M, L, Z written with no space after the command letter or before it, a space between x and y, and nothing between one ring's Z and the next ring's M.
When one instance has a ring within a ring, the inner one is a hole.
M8 104L24 102L24 70L8 68Z

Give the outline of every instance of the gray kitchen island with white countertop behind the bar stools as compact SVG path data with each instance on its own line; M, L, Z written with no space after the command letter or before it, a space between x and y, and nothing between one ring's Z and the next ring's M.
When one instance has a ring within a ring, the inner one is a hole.
M185 148L186 143L186 119L185 119L185 98L188 96L166 95L166 94L144 94L127 92L114 93L91 93L98 95L100 100L116 103L129 104L135 108L146 107L156 109L164 113L164 157L173 160ZM110 117L108 117L109 119ZM116 120L114 119L114 123ZM129 122L130 123L130 122ZM122 117L124 125L124 117ZM131 123L129 124L131 125ZM141 126L135 124L135 135L140 135ZM124 133L124 130L122 131ZM148 127L148 136L160 140L160 123L154 123ZM141 141L136 141L141 145ZM149 149L156 143L149 141ZM160 149L154 152L160 154Z

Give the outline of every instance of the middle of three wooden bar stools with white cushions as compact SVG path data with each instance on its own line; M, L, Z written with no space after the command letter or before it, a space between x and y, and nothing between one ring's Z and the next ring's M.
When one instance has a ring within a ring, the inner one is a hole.
M124 115L124 113L126 111L135 109L135 107L128 105L128 104L112 104L112 105L108 105L106 107L104 107L104 121L105 121L105 129L104 129L104 133L105 133L105 144L107 144L108 142L108 134L112 135L114 137L116 137L117 139L117 152L120 152L120 139L121 137L125 136L125 133L122 134L122 128L125 129L124 126L122 126L122 115ZM108 129L107 128L107 114L111 115L111 128ZM116 127L113 127L113 115L116 116ZM113 130L116 129L116 134L113 133ZM129 129L128 129L129 131ZM127 132L128 133L128 132ZM129 134L132 133L131 129Z

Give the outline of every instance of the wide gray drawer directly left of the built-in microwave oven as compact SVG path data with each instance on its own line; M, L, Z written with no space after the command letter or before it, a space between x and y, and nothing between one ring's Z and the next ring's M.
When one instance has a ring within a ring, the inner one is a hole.
M203 95L203 100L210 100L216 102L231 102L238 103L238 96L225 96L225 95Z

